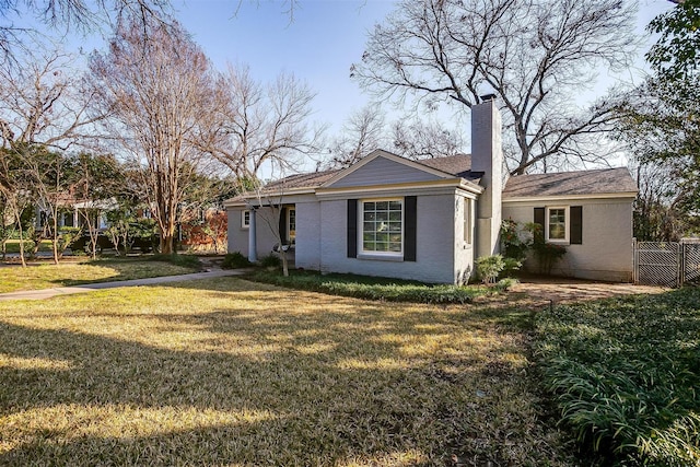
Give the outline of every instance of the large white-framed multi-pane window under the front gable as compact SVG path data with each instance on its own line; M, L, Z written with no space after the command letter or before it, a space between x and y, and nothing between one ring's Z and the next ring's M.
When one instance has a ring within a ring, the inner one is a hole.
M387 255L404 252L404 201L362 201L362 250Z

